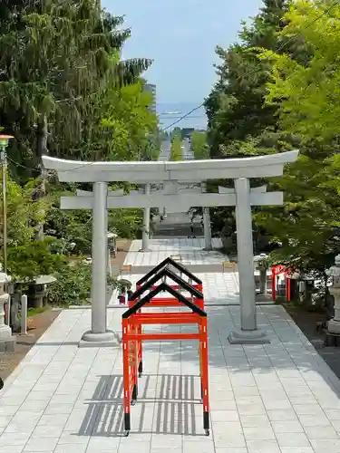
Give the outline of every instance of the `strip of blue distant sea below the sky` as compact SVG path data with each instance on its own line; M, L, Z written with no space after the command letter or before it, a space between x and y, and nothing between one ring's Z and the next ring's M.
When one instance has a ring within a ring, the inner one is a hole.
M200 102L158 103L157 113L160 115L161 128L164 129L167 126L170 126L170 124L172 124L173 122L180 120L180 117L198 107ZM188 117L180 120L180 122L173 125L170 129L173 129L175 127L206 130L207 116L204 107L199 108L199 110L197 111L193 111Z

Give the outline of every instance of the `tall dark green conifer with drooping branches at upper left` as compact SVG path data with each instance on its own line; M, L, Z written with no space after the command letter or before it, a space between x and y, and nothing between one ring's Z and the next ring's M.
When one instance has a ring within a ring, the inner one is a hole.
M150 62L120 62L130 30L97 2L6 4L0 15L0 122L13 132L12 159L40 166L42 154L91 156L102 101Z

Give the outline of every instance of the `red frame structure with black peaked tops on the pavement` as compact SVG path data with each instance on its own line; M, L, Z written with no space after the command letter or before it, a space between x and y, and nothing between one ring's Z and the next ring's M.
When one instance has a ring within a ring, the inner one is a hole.
M169 260L169 258L168 258ZM179 275L171 272L168 265L157 266L148 276L145 283L138 282L137 290L129 297L129 310L122 314L122 354L123 354L123 386L124 386L124 429L128 435L131 430L131 405L138 397L138 377L143 371L142 348L143 341L162 340L198 340L199 341L199 371L201 381L201 398L203 402L203 428L209 436L209 358L208 358L208 325L207 313L204 311L203 294L184 281ZM177 263L176 263L177 265ZM176 267L176 266L175 266ZM182 267L182 266L181 266ZM158 272L157 272L158 271ZM186 274L190 274L185 270ZM193 277L193 275L192 275ZM167 283L170 278L174 285ZM195 277L196 280L199 280ZM192 278L193 280L193 278ZM157 284L161 282L160 284ZM196 285L201 282L196 282ZM184 296L180 290L190 294ZM148 294L144 295L147 291ZM162 292L172 297L157 298ZM186 306L190 312L144 312L147 307ZM142 333L142 325L147 324L197 324L197 333Z

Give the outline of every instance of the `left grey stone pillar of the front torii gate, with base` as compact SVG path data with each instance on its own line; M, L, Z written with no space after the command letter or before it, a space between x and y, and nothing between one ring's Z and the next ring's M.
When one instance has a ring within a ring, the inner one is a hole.
M117 343L117 335L107 329L107 195L106 182L93 183L92 199L92 328L83 334L80 346Z

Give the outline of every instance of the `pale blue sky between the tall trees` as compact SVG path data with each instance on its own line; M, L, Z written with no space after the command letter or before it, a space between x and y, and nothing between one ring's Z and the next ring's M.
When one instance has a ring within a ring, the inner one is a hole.
M146 73L158 102L199 103L215 82L217 44L237 40L240 21L257 14L261 0L102 0L125 15L131 39L123 58L154 60Z

